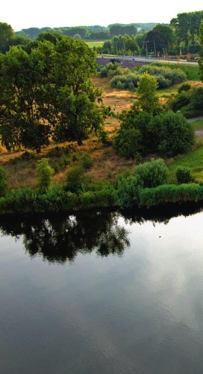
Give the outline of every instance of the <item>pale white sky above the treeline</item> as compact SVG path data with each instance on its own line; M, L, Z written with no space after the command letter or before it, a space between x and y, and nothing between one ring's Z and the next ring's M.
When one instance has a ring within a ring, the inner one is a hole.
M0 21L15 31L45 26L169 23L177 13L202 9L203 0L7 0L1 4Z

